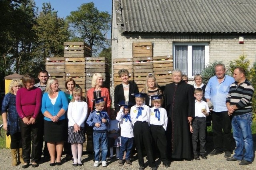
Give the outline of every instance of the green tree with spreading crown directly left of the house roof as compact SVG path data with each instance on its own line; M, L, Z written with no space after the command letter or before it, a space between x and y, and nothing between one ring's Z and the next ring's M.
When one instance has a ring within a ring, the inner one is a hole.
M111 16L108 12L100 12L93 2L82 4L77 11L67 16L74 38L82 38L95 53L108 45L104 33L110 29Z

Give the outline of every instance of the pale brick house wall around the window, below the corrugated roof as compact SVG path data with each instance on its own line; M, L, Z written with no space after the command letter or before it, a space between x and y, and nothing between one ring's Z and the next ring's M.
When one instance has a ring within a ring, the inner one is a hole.
M256 62L256 35L243 35L244 44L238 43L239 34L159 34L159 33L118 33L115 49L112 46L112 58L132 57L133 42L153 42L153 56L172 55L173 42L209 42L209 61L228 63L246 55L252 65Z

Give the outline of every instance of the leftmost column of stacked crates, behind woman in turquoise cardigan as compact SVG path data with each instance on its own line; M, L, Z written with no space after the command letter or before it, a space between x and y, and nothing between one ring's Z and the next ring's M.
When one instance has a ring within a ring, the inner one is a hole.
M45 69L49 77L58 79L59 89L65 90L65 59L64 57L49 57L45 61Z

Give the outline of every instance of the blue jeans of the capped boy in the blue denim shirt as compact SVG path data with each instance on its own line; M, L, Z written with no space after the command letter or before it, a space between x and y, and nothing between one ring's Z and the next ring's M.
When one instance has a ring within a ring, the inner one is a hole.
M101 148L101 161L106 160L108 153L108 133L93 132L93 149L95 152L94 159L100 160L100 148Z

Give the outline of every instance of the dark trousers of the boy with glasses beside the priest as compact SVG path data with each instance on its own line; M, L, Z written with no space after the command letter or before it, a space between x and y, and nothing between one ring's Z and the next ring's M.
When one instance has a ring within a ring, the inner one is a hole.
M198 154L198 139L200 144L200 154L204 154L206 150L206 118L195 117L192 123L192 145L193 153Z

